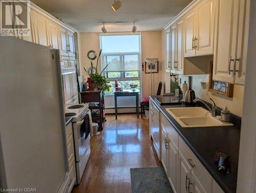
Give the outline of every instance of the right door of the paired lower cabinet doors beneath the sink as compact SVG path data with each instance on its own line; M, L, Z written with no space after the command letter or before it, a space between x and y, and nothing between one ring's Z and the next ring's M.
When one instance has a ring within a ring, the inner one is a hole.
M172 137L167 134L168 149L168 179L174 192L177 192L178 180L178 147L174 144Z

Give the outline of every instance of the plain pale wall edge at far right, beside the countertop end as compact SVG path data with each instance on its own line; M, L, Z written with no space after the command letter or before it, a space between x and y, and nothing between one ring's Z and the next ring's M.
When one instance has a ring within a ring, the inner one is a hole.
M251 1L237 192L256 192L256 2Z

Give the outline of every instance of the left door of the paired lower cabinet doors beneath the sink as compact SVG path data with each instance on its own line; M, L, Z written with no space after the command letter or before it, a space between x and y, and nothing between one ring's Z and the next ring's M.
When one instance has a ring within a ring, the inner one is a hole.
M167 170L168 155L167 155L166 141L167 141L167 132L161 124L161 162L165 170L165 173L167 174L168 173L168 170Z

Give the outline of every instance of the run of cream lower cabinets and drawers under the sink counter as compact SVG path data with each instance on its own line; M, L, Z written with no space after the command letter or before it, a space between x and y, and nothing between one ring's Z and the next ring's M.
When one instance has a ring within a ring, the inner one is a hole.
M174 193L224 192L162 113L159 137L161 162Z

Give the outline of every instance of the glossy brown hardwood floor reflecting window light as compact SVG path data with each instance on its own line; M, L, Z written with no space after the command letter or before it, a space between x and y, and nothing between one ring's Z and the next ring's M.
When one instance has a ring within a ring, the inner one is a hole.
M147 119L136 114L106 115L104 130L91 138L91 155L72 193L131 192L130 168L161 166Z

